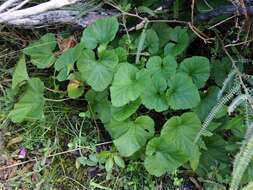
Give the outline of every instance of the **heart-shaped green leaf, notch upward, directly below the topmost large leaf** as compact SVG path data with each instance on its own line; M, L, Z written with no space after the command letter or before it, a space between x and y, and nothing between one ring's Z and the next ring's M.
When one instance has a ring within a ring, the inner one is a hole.
M118 64L118 56L113 50L105 50L95 59L91 50L85 50L78 60L77 67L81 77L93 90L103 91L112 82L114 71Z

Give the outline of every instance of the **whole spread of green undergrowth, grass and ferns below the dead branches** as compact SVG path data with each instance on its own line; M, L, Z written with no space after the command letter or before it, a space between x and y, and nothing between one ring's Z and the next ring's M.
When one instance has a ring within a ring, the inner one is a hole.
M60 34L43 33L15 66L1 68L2 165L19 160L20 148L29 161L5 169L16 173L4 185L251 187L252 63L236 47L228 51L216 29L207 46L189 23L134 17L140 30L98 19L67 47Z

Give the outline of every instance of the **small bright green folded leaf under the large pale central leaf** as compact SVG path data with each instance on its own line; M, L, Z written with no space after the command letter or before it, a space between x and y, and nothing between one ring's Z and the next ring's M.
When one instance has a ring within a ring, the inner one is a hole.
M114 107L112 106L112 116L113 119L117 121L123 121L129 118L132 114L136 112L136 110L141 105L141 99L137 99L133 102L130 102L122 107Z

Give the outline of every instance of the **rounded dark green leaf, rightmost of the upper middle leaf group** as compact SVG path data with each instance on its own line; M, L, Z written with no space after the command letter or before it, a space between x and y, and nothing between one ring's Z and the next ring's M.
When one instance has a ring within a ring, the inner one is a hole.
M209 60L201 56L186 58L180 64L179 72L188 74L193 83L202 88L210 75Z

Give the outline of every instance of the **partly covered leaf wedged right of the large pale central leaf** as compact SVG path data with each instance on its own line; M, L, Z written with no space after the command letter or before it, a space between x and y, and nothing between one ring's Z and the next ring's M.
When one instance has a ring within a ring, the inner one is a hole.
M157 112L165 111L169 108L165 90L167 88L166 80L153 77L148 90L142 95L142 103L148 109L154 109Z

